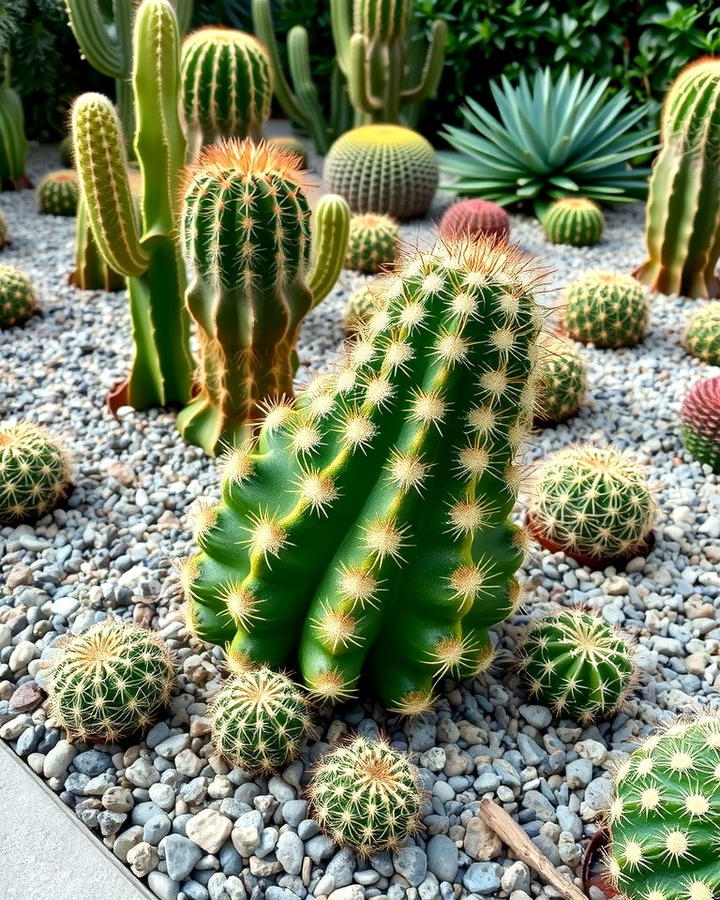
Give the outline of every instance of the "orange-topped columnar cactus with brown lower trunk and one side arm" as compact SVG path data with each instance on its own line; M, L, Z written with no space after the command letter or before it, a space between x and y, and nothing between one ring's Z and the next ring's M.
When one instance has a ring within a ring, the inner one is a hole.
M292 396L300 325L337 281L350 211L326 195L313 220L311 240L297 158L282 150L231 141L191 172L182 234L200 390L177 424L208 453L242 443L260 403Z

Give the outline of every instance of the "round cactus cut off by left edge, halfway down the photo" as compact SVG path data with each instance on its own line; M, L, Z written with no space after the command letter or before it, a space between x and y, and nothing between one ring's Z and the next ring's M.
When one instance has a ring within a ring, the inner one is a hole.
M0 426L0 525L39 519L69 486L68 457L44 428Z

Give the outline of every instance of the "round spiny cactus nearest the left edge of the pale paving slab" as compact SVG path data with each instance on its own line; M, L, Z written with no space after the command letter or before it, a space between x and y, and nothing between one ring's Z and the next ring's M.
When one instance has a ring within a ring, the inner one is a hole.
M112 743L152 725L174 680L173 657L162 639L112 618L59 645L47 692L71 740Z

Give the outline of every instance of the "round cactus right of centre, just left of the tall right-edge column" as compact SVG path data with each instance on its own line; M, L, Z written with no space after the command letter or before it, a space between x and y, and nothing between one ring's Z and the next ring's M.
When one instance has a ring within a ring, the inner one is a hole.
M645 336L649 319L647 293L631 275L589 272L565 292L565 329L583 344L632 347Z

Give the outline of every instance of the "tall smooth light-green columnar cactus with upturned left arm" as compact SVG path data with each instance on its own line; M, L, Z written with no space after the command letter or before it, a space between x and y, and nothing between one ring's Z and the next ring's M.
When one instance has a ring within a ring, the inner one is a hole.
M140 217L130 190L117 114L101 94L73 106L82 202L105 262L127 279L135 356L122 393L136 409L183 404L192 361L177 237L185 135L178 114L179 37L168 0L143 0L134 31L135 151Z

